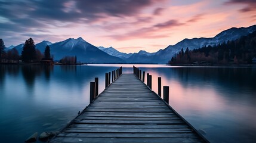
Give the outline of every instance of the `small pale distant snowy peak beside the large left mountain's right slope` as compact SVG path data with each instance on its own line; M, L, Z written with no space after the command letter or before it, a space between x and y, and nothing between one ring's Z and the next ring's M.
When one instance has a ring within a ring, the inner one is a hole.
M101 51L106 52L109 55L122 58L123 60L127 60L127 58L129 58L132 55L131 53L127 54L127 53L124 53L124 52L119 52L118 50L116 50L112 46L110 46L109 48L105 48L103 46L98 46L98 48Z

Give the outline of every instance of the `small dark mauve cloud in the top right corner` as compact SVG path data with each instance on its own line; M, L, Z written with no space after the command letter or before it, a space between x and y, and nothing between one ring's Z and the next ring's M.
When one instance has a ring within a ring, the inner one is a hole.
M229 1L225 2L224 4L227 4L227 5L229 5L229 4L245 4L246 7L239 10L242 13L256 10L256 1L255 0L229 0Z

